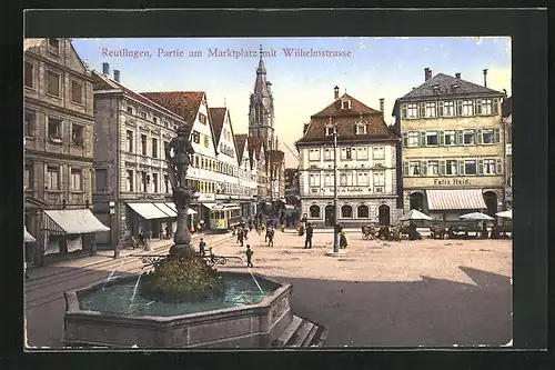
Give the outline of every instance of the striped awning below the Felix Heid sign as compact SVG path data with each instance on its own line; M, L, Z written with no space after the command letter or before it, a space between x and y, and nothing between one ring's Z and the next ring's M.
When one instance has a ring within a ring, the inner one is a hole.
M426 190L430 210L486 209L481 189Z

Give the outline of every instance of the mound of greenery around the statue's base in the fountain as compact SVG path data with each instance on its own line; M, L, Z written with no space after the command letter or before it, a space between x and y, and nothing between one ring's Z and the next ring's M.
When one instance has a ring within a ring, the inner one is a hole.
M222 288L221 277L202 257L167 257L144 277L141 296L164 302L200 301Z

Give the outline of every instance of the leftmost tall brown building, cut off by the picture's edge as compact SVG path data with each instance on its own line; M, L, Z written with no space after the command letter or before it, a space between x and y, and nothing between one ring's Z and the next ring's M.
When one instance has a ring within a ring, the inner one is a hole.
M95 252L92 78L70 39L26 39L24 222L28 263ZM80 222L75 222L79 220Z

